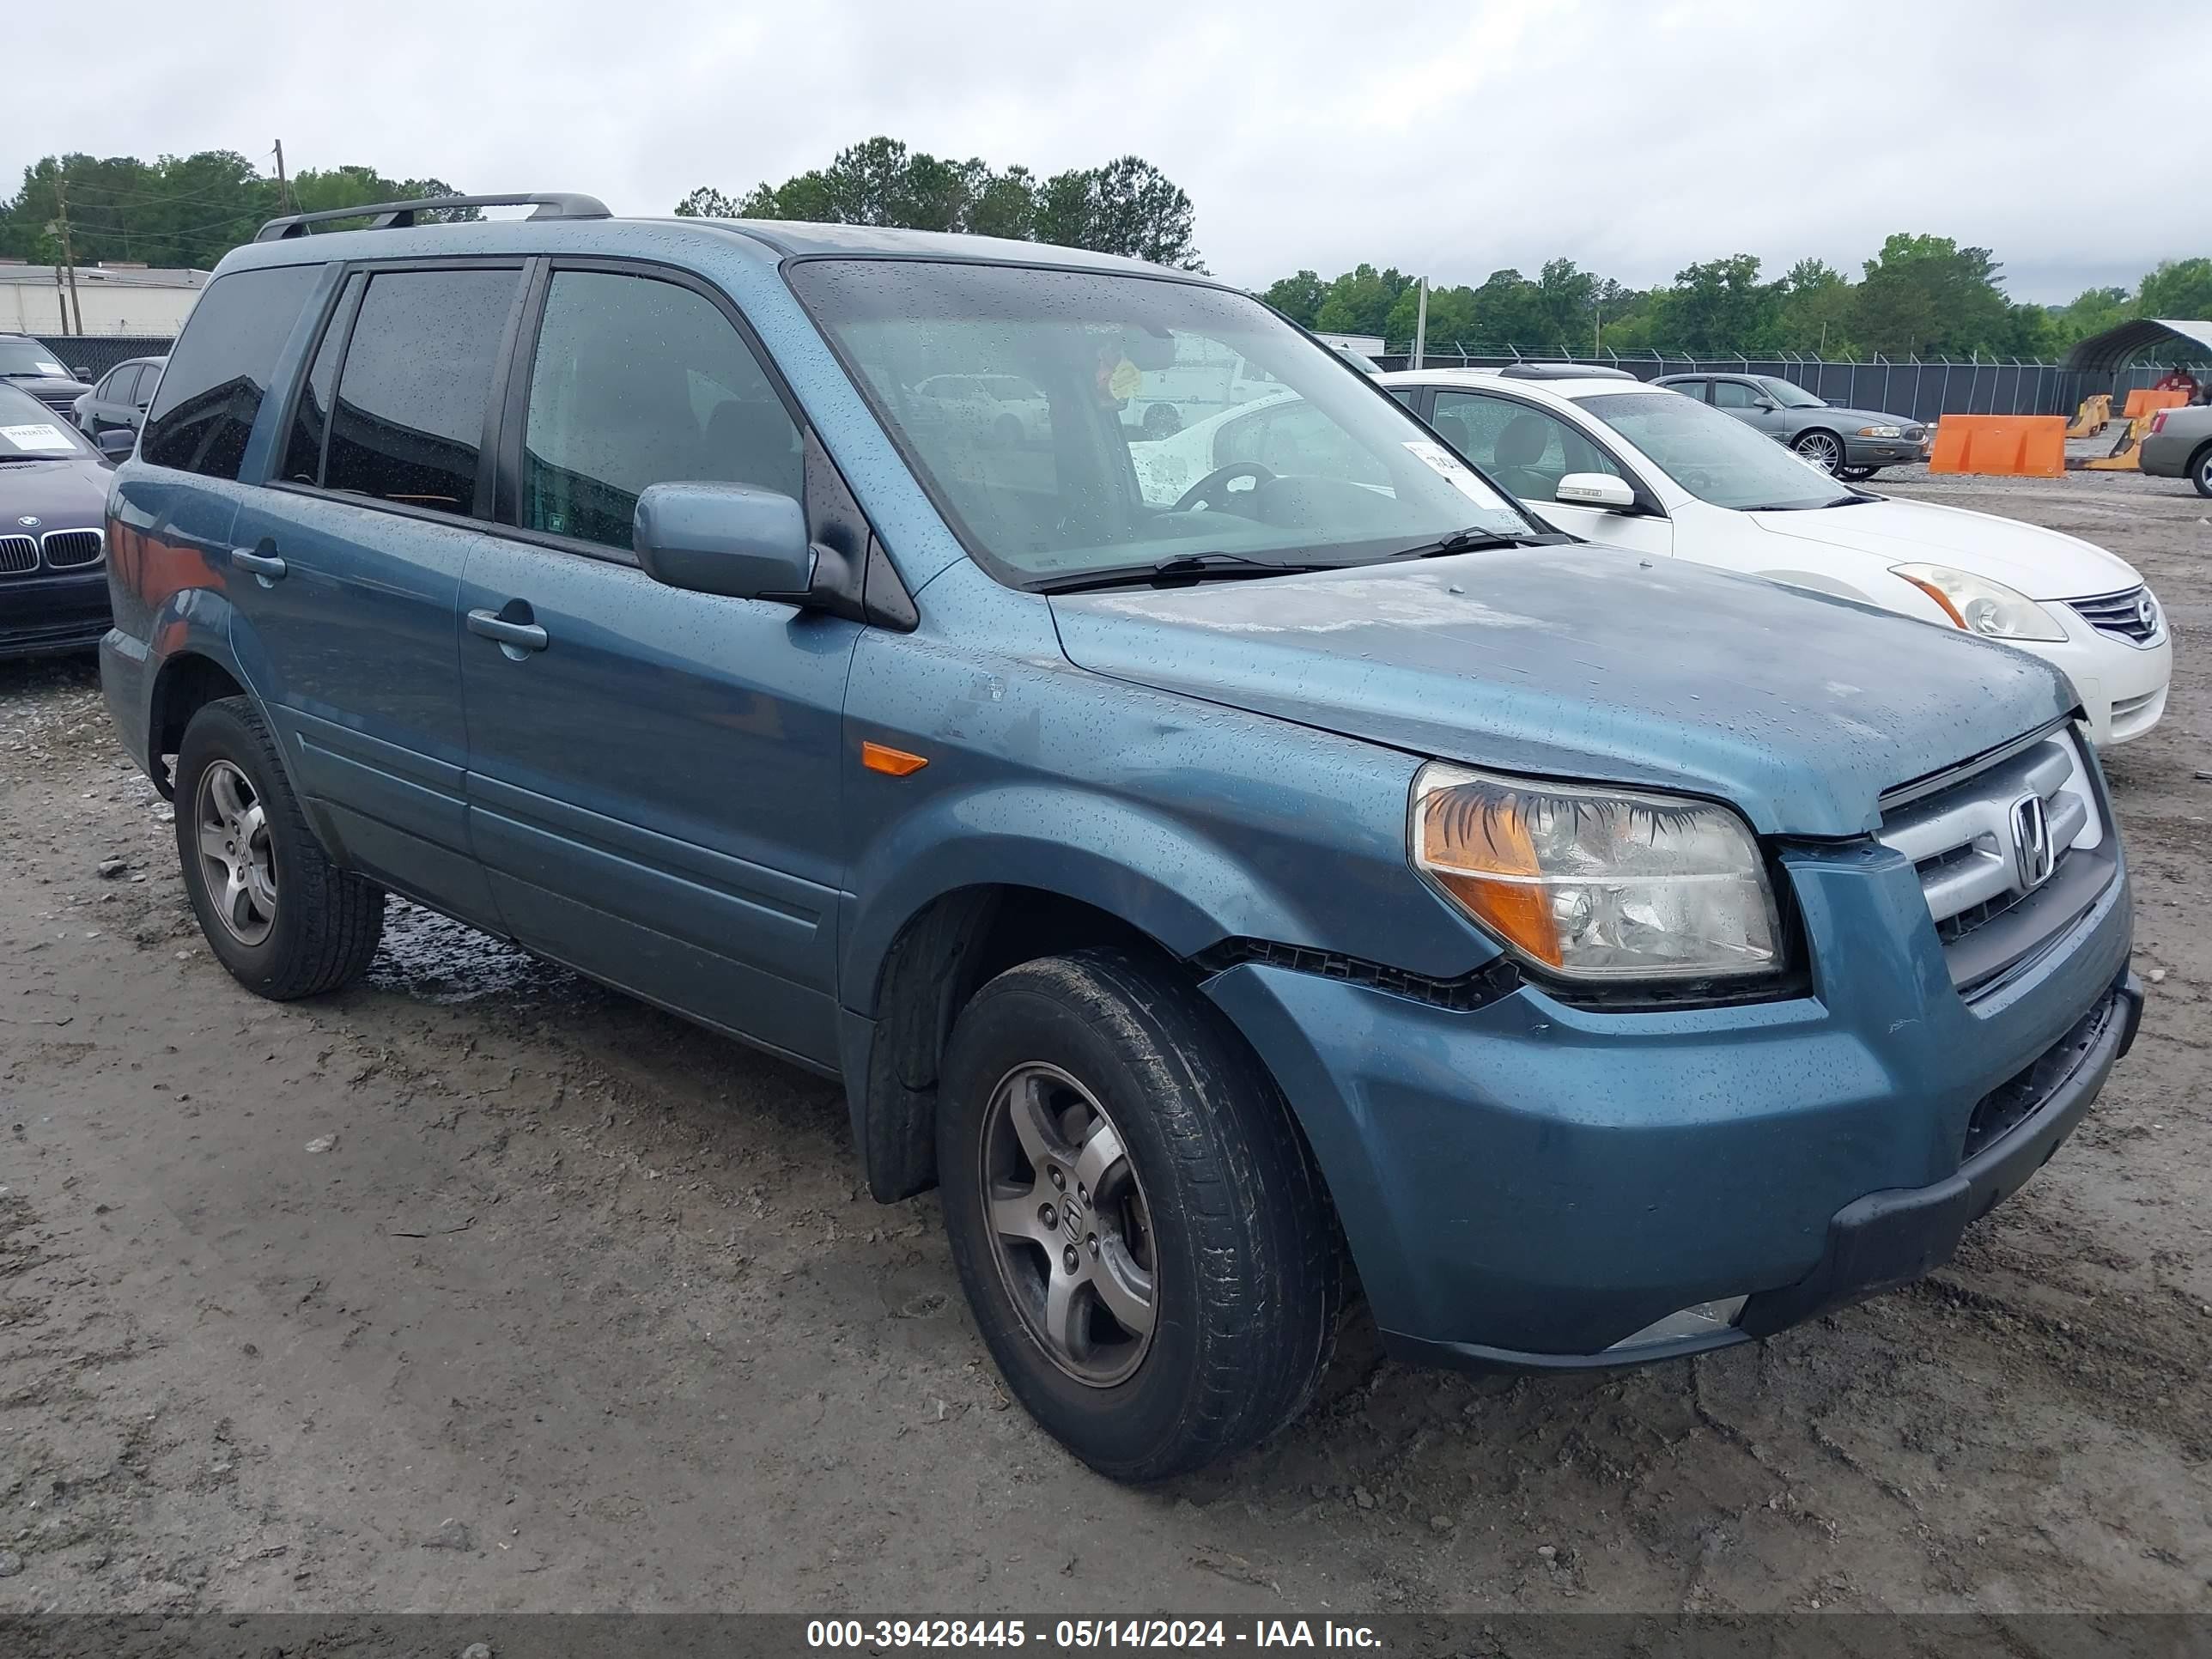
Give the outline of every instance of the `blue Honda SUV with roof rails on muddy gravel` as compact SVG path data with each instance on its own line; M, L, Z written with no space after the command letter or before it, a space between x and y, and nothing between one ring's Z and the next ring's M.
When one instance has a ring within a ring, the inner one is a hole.
M398 891L841 1077L1093 1467L1294 1418L1354 1274L1537 1369L1909 1281L2126 1053L2035 657L1546 533L1203 276L504 201L263 228L115 476L208 945Z

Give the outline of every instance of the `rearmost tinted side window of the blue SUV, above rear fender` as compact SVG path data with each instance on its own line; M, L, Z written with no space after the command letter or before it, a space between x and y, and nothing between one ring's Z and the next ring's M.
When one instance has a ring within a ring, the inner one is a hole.
M321 265L272 265L208 283L146 416L142 460L208 478L239 476L276 354L321 276Z

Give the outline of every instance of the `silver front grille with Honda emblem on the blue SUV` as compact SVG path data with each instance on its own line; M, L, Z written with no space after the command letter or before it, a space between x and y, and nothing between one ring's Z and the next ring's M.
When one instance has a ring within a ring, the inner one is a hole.
M2033 878L2035 860L2020 845L2020 810L2031 796L2042 805L2053 854L2042 878ZM2068 927L2117 869L2088 765L2070 732L2055 732L1885 812L1880 841L1913 860L1960 989L1984 984L2031 956Z

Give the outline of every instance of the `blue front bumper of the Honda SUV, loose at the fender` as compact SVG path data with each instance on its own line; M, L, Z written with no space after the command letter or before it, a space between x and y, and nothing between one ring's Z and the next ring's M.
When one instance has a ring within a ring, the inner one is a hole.
M1902 856L1783 865L1816 942L1812 995L1783 1002L1613 1013L1524 984L1458 1011L1259 962L1206 982L1296 1113L1396 1349L1579 1367L1765 1334L1947 1256L2073 1128L2135 1026L2124 869L1969 1002ZM2115 998L2066 1099L1969 1159L1975 1108ZM1608 1352L1736 1296L1730 1329Z

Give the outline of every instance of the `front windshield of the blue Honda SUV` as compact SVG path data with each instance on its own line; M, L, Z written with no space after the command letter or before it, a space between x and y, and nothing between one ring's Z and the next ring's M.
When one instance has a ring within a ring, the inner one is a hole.
M1015 586L1208 553L1250 573L1542 533L1245 294L909 259L805 261L792 288L960 540ZM1044 407L964 407L947 376L1013 376Z

